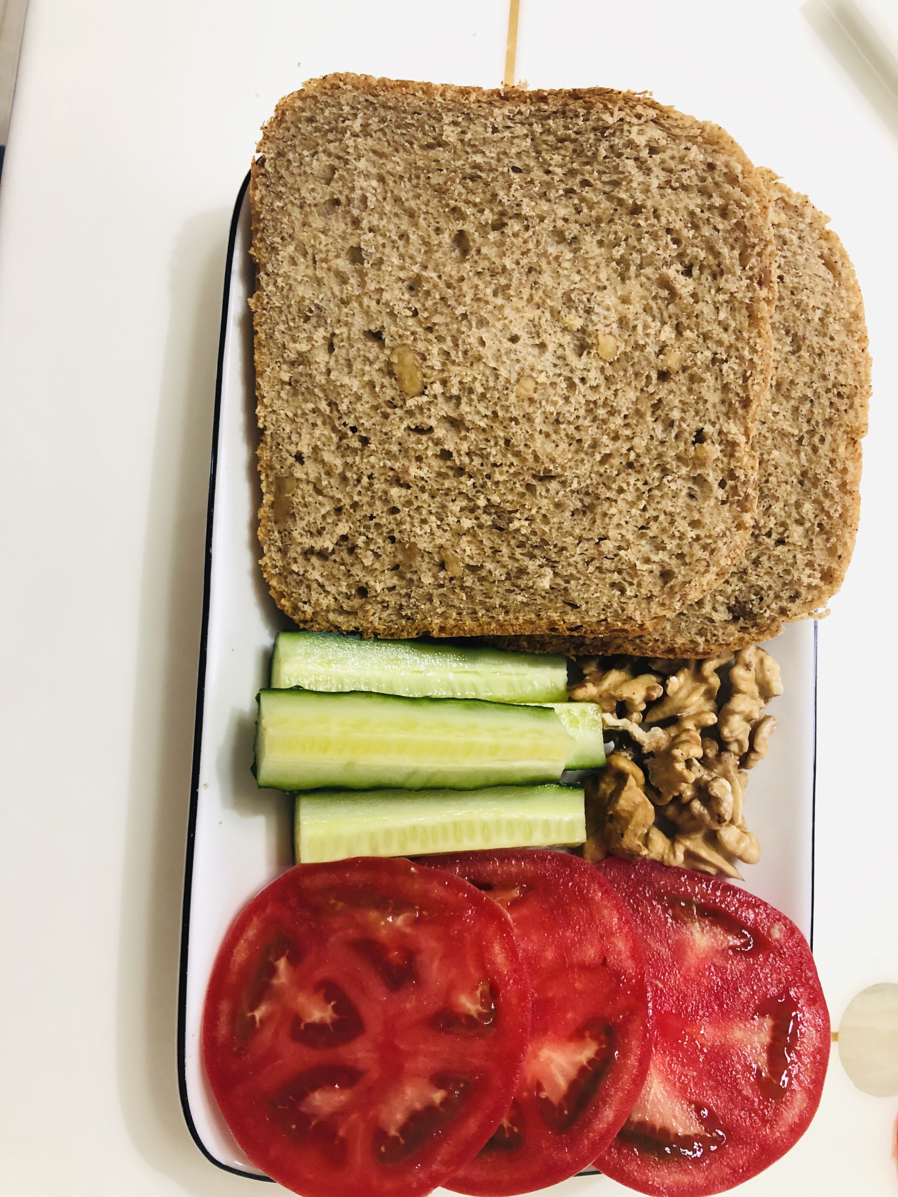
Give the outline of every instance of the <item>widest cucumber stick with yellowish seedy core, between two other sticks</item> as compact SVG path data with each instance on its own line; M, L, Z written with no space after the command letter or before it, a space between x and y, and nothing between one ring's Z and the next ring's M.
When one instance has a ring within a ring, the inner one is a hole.
M266 789L475 790L557 782L576 747L554 711L473 699L259 693L255 766Z

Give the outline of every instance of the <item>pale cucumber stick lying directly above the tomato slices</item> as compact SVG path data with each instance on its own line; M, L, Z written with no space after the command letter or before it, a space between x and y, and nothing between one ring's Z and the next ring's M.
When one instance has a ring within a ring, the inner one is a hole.
M585 839L583 790L340 790L296 798L297 863L351 856L427 856L497 847L574 846Z

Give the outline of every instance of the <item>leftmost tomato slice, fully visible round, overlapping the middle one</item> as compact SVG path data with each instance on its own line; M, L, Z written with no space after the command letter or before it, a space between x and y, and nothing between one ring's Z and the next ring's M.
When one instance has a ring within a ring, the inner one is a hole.
M233 1137L304 1197L415 1197L511 1101L530 994L509 917L401 859L301 864L238 915L206 995Z

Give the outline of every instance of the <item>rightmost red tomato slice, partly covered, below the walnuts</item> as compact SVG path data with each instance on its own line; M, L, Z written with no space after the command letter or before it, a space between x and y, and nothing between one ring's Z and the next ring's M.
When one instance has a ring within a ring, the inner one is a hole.
M722 1192L788 1152L820 1101L830 1016L811 949L716 877L617 857L597 870L636 920L655 1031L639 1100L595 1165L644 1193Z

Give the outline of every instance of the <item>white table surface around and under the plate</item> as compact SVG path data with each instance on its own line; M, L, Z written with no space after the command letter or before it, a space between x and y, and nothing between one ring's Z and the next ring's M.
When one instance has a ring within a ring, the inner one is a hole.
M506 11L30 0L0 184L2 1197L262 1193L193 1146L175 1069L227 224L283 93L335 69L493 85ZM827 20L795 0L522 0L518 77L648 89L720 122L831 214L857 267L864 509L820 628L814 948L838 1023L856 990L898 980L898 92ZM833 1052L811 1130L744 1191L894 1193L897 1111Z

